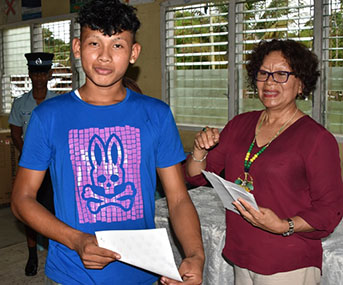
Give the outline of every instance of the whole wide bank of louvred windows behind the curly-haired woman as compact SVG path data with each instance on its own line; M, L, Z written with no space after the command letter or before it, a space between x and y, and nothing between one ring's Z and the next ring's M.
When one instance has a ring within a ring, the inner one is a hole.
M322 70L314 94L297 99L299 108L343 134L342 1L197 2L162 5L163 95L179 127L223 127L238 113L262 108L245 80L247 55L262 39L289 38L312 49Z

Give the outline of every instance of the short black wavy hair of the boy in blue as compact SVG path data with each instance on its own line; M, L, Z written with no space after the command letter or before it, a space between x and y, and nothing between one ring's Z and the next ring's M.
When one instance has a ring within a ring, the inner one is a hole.
M88 27L107 36L129 31L134 40L140 27L136 9L119 0L91 0L81 7L77 22L81 29Z

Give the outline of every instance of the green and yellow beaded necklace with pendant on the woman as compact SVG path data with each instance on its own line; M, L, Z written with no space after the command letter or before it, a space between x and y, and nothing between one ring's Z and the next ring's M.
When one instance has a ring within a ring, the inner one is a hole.
M256 130L256 133L255 133L255 137L252 141L252 143L250 144L250 147L248 149L248 152L247 154L245 155L245 159L244 159L244 177L241 178L241 177L238 177L236 180L235 180L235 183L242 186L247 192L250 192L252 190L254 190L254 183L253 183L253 178L252 176L249 174L249 170L250 170L250 167L252 165L252 163L266 150L266 148L272 143L273 140L275 140L279 134L282 132L282 130L293 120L293 118L295 117L295 114L298 112L298 108L295 110L294 114L292 115L292 117L287 120L286 123L284 123L281 128L276 132L276 134L271 138L271 140L264 146L262 147L257 153L255 153L251 158L250 158L250 155L251 155L251 151L255 145L255 142L256 142L256 137L258 135L258 132L265 120L265 114L266 113L263 113L263 118L261 119L261 122L260 124L258 125L257 127L257 130Z

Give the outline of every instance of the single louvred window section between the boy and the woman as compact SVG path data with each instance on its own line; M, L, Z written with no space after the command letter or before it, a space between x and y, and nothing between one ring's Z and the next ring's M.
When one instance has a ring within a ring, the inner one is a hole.
M166 91L178 125L227 121L227 19L225 3L166 10Z

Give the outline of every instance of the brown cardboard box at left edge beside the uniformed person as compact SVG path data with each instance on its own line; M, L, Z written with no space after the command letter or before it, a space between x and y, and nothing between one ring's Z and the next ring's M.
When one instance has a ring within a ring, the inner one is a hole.
M10 130L0 130L0 205L9 204L14 178L18 168L18 151Z

